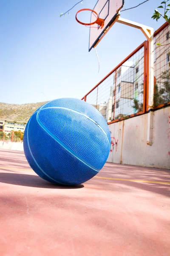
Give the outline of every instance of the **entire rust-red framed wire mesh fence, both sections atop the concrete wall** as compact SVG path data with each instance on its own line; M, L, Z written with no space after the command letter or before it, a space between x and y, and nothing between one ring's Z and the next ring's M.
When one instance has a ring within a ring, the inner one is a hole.
M154 107L170 104L170 25L154 34ZM147 111L148 50L145 41L83 98L116 122Z

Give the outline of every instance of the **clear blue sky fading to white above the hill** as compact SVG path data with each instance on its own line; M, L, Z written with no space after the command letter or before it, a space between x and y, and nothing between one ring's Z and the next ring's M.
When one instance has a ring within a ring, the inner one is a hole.
M138 29L116 23L88 52L89 29L75 20L79 9L93 9L84 0L70 15L59 17L78 0L0 0L0 102L25 104L63 97L81 99L145 37ZM125 8L143 0L125 0ZM158 29L151 19L161 0L149 0L121 17ZM83 17L85 18L85 17Z

